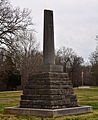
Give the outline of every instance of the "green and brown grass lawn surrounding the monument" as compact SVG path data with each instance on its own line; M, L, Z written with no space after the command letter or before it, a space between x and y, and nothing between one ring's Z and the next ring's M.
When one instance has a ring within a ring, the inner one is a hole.
M72 115L60 118L34 118L5 115L5 107L18 106L22 92L0 93L0 120L98 120L98 89L75 89L79 105L93 106L93 113Z

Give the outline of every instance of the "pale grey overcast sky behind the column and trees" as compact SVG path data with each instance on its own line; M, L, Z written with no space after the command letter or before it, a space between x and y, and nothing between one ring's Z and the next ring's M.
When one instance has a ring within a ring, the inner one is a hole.
M88 61L95 50L98 34L98 0L10 0L13 6L29 8L42 49L43 11L54 11L55 48L62 46Z

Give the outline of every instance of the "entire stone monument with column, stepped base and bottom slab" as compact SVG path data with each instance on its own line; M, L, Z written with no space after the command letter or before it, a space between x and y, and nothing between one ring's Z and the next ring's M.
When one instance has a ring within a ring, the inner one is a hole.
M55 65L53 11L44 10L43 65L29 78L20 106L5 113L26 116L59 117L92 112L92 107L77 105L71 80L63 67Z

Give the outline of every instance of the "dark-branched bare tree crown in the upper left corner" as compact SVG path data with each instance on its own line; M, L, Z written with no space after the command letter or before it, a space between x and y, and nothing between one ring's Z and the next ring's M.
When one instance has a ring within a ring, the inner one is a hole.
M7 0L0 1L0 49L16 50L17 36L32 24L28 9L13 8Z

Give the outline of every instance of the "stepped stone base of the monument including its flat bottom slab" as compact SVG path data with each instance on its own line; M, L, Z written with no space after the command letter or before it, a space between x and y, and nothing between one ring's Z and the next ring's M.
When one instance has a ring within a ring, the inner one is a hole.
M67 73L33 74L28 80L20 106L6 108L6 114L59 117L92 112L89 106L78 107L76 95Z

